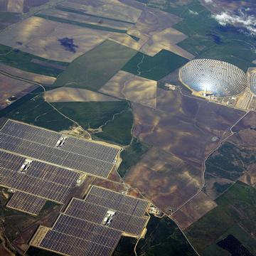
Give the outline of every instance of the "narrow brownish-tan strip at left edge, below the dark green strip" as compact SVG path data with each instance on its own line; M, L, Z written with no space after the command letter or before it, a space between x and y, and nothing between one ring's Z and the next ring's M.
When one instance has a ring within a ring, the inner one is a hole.
M4 71L10 75L14 75L18 78L23 78L26 80L31 80L33 82L39 82L43 85L52 85L55 82L56 78L49 77L47 75L38 75L36 73L26 72L23 70L19 70L18 68L12 68L8 65L4 65L0 63L0 70Z

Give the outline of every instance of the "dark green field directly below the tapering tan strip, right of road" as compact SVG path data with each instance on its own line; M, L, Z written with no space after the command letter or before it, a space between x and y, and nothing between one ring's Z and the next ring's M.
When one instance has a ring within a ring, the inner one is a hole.
M56 102L52 103L60 112L71 117L84 129L96 129L112 119L114 114L129 109L126 101L114 102Z

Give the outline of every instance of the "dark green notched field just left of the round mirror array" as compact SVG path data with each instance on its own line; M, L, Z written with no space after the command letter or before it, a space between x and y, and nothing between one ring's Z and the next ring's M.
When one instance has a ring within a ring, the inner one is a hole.
M160 80L172 71L186 64L188 60L169 50L161 50L151 57L144 53L137 53L122 70L139 75L142 78Z

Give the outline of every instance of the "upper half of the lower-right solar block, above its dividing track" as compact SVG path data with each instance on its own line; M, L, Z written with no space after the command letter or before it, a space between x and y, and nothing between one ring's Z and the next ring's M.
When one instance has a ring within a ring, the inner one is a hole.
M115 214L109 225L110 228L139 236L148 220L144 217L148 206L148 201L92 186L84 200L72 199L65 214L100 224L107 210L111 209Z

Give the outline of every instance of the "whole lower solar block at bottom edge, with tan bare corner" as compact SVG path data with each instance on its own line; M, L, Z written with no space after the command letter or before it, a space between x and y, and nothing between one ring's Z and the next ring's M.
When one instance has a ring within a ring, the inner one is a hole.
M149 202L98 186L73 198L52 228L40 226L31 245L62 255L112 255L122 235L143 237Z

